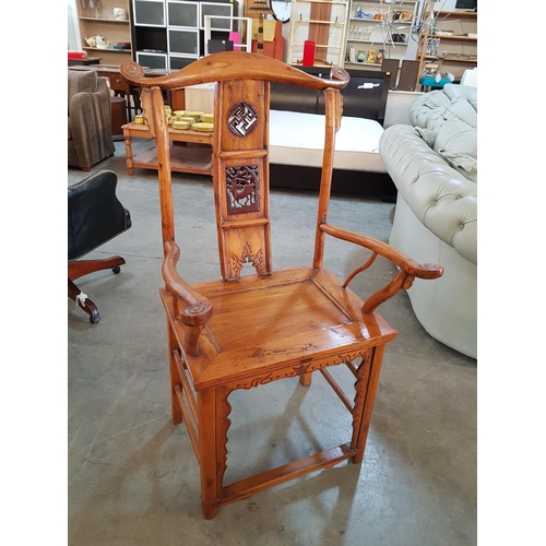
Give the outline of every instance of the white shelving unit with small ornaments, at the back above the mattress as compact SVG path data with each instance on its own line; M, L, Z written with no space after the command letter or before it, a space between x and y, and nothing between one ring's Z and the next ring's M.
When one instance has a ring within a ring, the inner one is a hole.
M345 67L380 69L381 60L414 59L416 0L351 0ZM408 50L411 49L411 50Z

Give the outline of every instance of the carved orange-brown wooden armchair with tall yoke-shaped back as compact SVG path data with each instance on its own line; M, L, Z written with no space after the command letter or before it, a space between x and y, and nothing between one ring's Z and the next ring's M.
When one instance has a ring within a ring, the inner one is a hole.
M143 90L144 120L157 143L165 251L165 287L159 292L167 313L173 422L183 418L195 451L204 518L214 518L218 507L319 468L347 459L361 462L385 345L396 335L376 308L401 288L410 288L414 277L437 278L442 269L419 265L384 242L328 222L334 139L342 118L340 88L347 84L348 74L332 69L331 80L321 80L275 59L239 51L211 55L162 78L144 78L143 69L132 61L123 63L121 72ZM177 272L180 248L175 238L169 129L162 91L207 82L217 82L213 183L222 278L190 285ZM325 95L312 263L281 271L274 270L271 252L270 82ZM323 268L327 236L369 249L368 262L340 281ZM397 272L361 300L347 285L378 256L391 260ZM245 263L251 263L256 274L241 275ZM353 400L328 371L341 364L356 377ZM342 446L224 485L229 394L290 377L309 385L314 371L324 375L352 413L352 437Z

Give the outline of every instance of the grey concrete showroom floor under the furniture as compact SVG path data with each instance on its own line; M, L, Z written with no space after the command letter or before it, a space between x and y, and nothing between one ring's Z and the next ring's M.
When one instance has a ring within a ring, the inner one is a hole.
M136 142L135 153L144 145ZM399 335L387 349L363 464L342 463L203 520L188 434L170 423L156 173L129 177L122 142L92 171L102 168L118 174L133 227L90 254L121 254L127 264L118 275L104 271L76 282L98 306L100 322L91 324L68 300L69 544L476 544L477 363L431 339L406 293L379 311ZM69 169L68 182L85 176ZM211 180L175 174L174 200L182 275L218 277ZM272 191L275 268L310 262L316 203L312 193ZM387 241L393 210L334 195L330 221ZM342 277L365 256L329 241L325 264ZM392 271L380 264L369 283L380 286ZM367 293L360 277L352 287ZM229 400L226 483L347 440L348 413L317 375L309 389L286 379Z

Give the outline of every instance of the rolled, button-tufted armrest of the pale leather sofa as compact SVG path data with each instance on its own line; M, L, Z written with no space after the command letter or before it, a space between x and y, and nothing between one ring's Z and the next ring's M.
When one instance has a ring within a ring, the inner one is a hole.
M422 224L477 264L477 185L450 167L411 126L387 129L379 154Z

